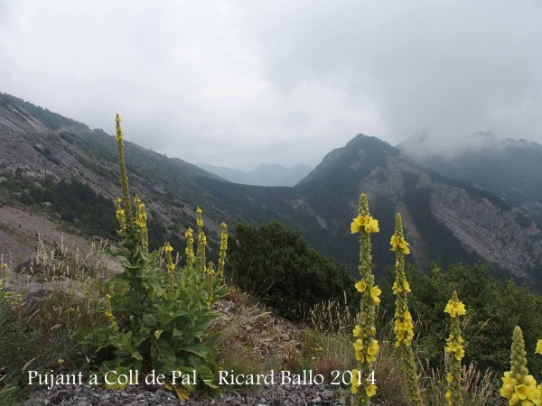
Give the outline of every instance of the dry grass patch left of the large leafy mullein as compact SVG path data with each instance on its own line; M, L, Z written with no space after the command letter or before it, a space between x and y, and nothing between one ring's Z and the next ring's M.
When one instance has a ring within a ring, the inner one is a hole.
M79 338L89 337L106 323L99 309L103 281L110 272L100 259L100 247L81 255L79 250L71 254L63 245L48 251L41 244L28 268L8 275L8 288L26 295L5 309L9 319L0 329L0 375L8 374L14 387L20 384L13 392L29 389L23 384L29 369L79 371L87 366L86 347Z

